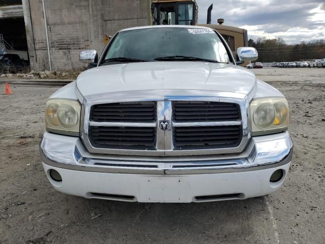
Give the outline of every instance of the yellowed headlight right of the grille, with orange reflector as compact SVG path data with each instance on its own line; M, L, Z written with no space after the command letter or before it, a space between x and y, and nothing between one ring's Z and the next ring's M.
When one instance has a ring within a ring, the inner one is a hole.
M263 135L287 130L288 102L285 98L257 98L250 103L252 134Z

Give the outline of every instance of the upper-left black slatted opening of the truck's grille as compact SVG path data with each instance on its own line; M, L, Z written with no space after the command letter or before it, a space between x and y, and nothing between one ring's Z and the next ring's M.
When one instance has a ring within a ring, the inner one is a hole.
M91 107L90 120L95 122L146 122L155 120L155 102L97 104Z

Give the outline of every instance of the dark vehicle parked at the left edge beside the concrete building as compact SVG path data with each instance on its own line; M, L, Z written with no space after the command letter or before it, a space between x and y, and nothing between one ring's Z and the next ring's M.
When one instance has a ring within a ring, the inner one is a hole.
M18 54L0 54L0 75L9 72L23 71L29 62L20 58Z

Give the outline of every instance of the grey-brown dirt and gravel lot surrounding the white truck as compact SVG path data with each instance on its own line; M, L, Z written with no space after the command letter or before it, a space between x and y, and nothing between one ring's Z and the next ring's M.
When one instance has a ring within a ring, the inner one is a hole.
M124 203L56 192L38 146L44 103L57 87L12 85L13 95L0 95L0 243L324 243L325 69L253 71L288 99L293 164L272 195L212 203Z

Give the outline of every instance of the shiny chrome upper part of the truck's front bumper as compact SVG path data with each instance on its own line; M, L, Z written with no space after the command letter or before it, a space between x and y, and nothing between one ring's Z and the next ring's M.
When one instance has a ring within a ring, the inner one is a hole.
M79 137L45 132L40 143L46 165L90 172L181 175L261 170L291 162L293 142L287 132L252 137L240 154L204 156L124 156L89 154Z

